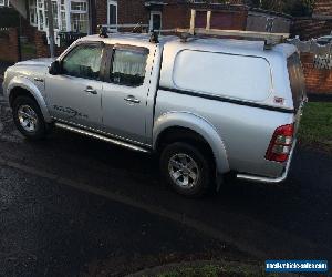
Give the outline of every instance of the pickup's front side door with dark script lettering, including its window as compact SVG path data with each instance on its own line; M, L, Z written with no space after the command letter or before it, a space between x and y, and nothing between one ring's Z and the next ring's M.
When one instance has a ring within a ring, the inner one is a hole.
M102 55L100 42L81 43L62 59L61 74L49 74L46 102L52 117L86 127L101 127Z

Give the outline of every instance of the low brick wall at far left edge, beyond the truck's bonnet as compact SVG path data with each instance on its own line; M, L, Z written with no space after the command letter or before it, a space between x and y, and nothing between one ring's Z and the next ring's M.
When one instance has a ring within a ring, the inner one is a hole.
M9 28L2 31L0 29L0 61L19 61L19 40L18 30L15 28Z

